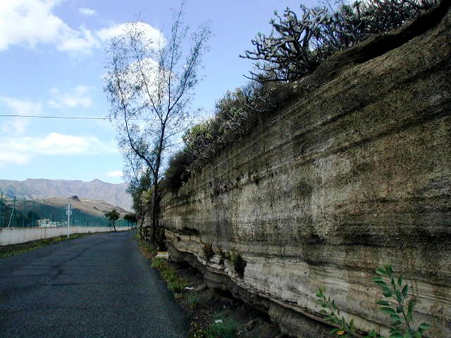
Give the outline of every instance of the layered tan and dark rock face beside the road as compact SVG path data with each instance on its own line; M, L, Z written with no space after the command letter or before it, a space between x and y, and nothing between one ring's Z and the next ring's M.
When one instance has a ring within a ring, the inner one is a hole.
M416 324L433 325L428 337L451 337L446 11L426 32L412 25L335 56L298 84L308 88L294 101L264 116L177 196L163 196L173 258L267 311L294 337L330 337L314 296L319 287L359 330L388 332L370 278L392 263L412 281ZM406 32L416 36L404 42ZM398 46L352 62L393 37ZM246 262L242 276L230 258L237 253Z

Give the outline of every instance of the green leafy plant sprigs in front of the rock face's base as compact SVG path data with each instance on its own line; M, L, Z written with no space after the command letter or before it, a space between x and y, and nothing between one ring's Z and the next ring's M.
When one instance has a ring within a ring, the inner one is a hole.
M376 269L376 276L371 280L378 284L382 289L383 299L376 303L381 306L383 313L390 315L391 330L389 338L421 338L424 332L430 327L427 323L421 323L418 327L414 327L414 307L416 299L409 296L409 284L404 282L404 278L400 275L393 275L392 265L386 264ZM360 337L354 327L354 321L349 323L340 314L340 309L330 296L326 296L326 289L320 288L316 292L317 301L321 304L323 310L321 313L328 323L334 325L335 328L330 332L338 334L342 337ZM381 334L375 331L369 332L366 338L383 338Z

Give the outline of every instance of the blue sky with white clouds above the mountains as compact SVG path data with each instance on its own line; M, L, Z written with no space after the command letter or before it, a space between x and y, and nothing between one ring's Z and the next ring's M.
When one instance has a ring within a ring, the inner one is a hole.
M310 2L309 2L310 1ZM303 4L312 6L311 0ZM211 115L215 101L247 82L252 62L239 58L273 11L294 0L189 0L192 30L211 21L193 109ZM104 48L125 23L140 20L169 35L175 0L0 0L0 115L105 118ZM123 182L123 160L108 120L0 116L0 180L48 178Z

